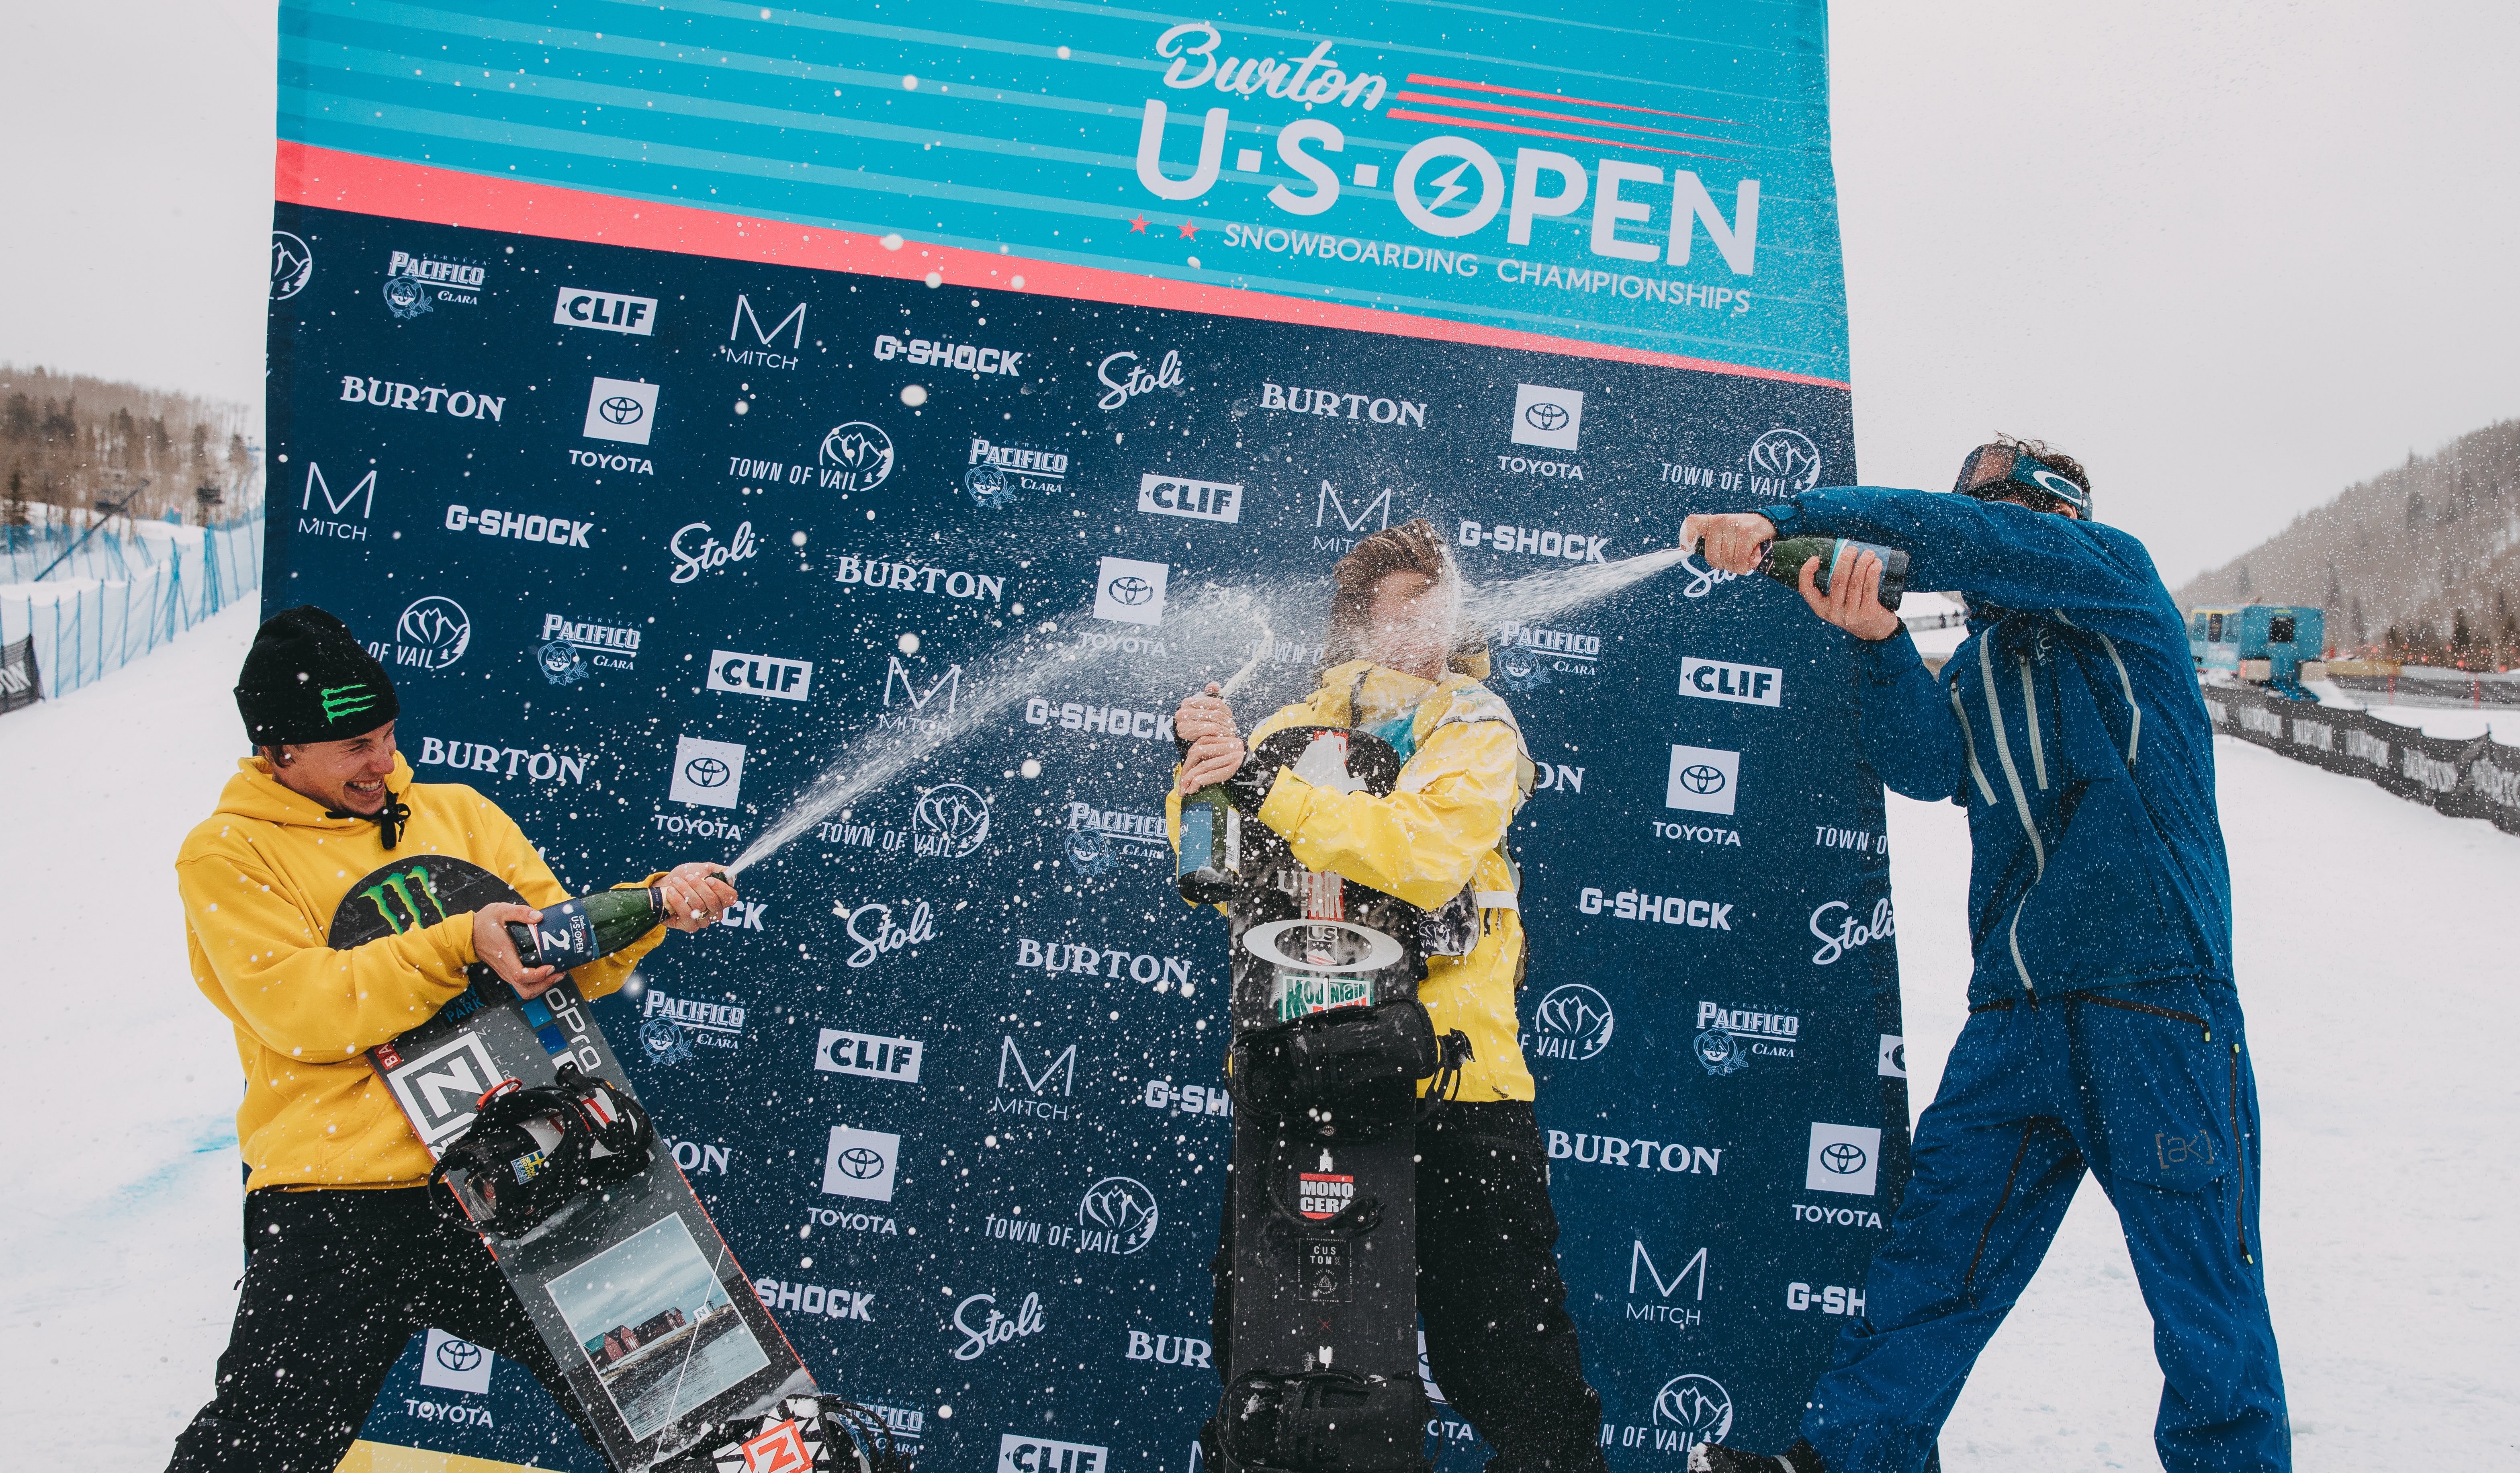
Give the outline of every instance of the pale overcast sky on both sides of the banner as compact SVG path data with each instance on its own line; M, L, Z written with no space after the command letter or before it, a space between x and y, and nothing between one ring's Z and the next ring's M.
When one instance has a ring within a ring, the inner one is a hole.
M0 358L260 401L275 8L0 23ZM2520 5L1847 0L1855 426L2084 459L2170 583L2520 414Z

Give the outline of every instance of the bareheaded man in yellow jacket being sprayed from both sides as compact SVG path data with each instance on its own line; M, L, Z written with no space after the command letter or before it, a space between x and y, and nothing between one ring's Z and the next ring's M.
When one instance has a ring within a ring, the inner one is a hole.
M1187 749L1167 822L1179 837L1182 797L1232 782L1310 870L1424 911L1472 890L1477 941L1464 956L1429 956L1419 984L1434 1034L1459 1029L1472 1047L1457 1102L1419 1130L1426 1359L1452 1407L1494 1445L1492 1473L1603 1473L1600 1397L1565 1312L1547 1150L1515 1011L1522 913L1504 830L1530 795L1532 762L1512 711L1479 684L1484 643L1462 638L1459 578L1434 527L1419 520L1366 537L1333 583L1320 689L1260 721L1250 742L1283 726L1371 731L1401 754L1399 787L1373 797L1288 767L1260 772L1210 686L1172 719ZM1230 1281L1220 1256L1220 1347Z

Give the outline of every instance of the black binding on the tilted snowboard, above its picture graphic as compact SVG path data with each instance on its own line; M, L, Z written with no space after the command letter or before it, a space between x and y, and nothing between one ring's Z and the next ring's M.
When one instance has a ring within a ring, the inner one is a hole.
M481 1095L428 1185L446 1183L474 1228L519 1238L572 1201L640 1175L653 1150L655 1125L627 1090L562 1064L552 1085L501 1080ZM449 1198L431 1191L438 1213Z

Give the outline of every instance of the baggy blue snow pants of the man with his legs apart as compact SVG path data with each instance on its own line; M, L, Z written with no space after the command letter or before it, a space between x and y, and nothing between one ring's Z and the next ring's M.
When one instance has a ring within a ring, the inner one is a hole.
M2293 1465L2258 1251L2258 1085L2220 984L1971 1009L1915 1175L1812 1390L1830 1473L1940 1468L1935 1435L2089 1168L2152 1309L2167 1473Z

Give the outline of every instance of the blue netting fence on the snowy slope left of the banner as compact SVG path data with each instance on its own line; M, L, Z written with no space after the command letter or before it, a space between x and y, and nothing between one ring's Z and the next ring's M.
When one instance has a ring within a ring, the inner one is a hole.
M0 527L0 646L33 638L45 696L98 681L262 590L260 507L207 527L28 509L33 525Z

